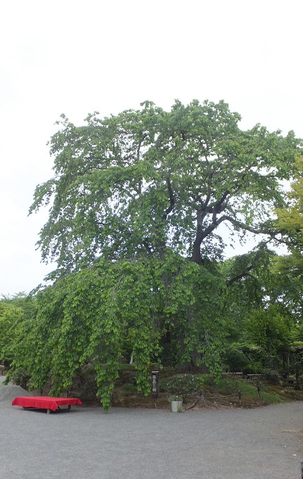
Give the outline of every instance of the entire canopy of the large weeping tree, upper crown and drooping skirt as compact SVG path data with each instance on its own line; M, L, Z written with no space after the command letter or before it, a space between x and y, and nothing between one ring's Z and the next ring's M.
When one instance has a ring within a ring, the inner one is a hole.
M275 238L271 211L284 205L281 181L301 146L292 132L243 132L239 121L223 101L176 101L170 112L145 102L89 115L82 127L63 116L51 139L54 177L30 208L49 205L38 244L44 261L57 262L15 347L12 370L29 372L32 387L51 376L58 393L93 362L106 408L119 355L134 356L148 392L146 365L167 346L179 364L218 374L226 288L247 279L264 251L262 243L224 273L219 225Z

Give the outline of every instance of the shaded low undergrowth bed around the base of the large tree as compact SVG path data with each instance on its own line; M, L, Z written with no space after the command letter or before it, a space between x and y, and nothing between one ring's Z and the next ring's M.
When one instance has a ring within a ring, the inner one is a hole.
M150 367L150 372L155 367ZM167 384L169 381L175 381L178 375L173 368L162 368L159 373L159 396L157 398L145 397L136 390L136 369L134 366L122 364L120 376L115 383L112 393L113 407L148 407L158 409L169 409L169 390ZM191 383L197 383L199 375L195 376L195 381L191 378ZM250 381L245 378L231 378L222 376L218 383L200 376L201 385L194 392L179 391L183 396L185 407L190 406L197 400L196 407L239 407L245 408L264 406L267 404L278 404L281 402L303 400L303 391L297 391L292 385L277 384L271 385L266 381ZM181 381L182 382L182 381ZM184 381L183 381L184 382ZM258 392L259 386L259 392ZM94 379L94 367L90 366L83 371L81 381L77 378L74 381L69 395L78 396L86 404L100 404L96 399L96 381ZM189 389L187 389L188 391ZM259 394L261 397L259 397Z

